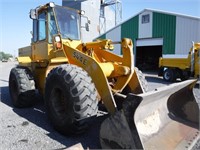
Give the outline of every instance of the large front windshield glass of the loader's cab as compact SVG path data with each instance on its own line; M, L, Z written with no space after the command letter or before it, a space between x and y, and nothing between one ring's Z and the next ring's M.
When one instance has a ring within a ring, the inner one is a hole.
M79 15L66 7L55 6L55 14L63 39L80 40Z

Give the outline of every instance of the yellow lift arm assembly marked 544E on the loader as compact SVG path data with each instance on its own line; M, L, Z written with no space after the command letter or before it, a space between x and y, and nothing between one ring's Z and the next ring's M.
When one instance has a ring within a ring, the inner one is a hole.
M89 73L106 108L111 114L114 114L117 106L113 93L122 92L134 74L133 44L129 39L123 39L121 42L123 57L119 57L104 50L112 47L110 40L105 40L103 43L105 45L102 44L102 41L86 43L84 47L85 53L80 52L78 49L73 49L67 44L63 44L63 49L71 64L81 66ZM91 54L87 55L86 53L89 50ZM113 88L110 88L108 83L107 78L109 77L116 78Z

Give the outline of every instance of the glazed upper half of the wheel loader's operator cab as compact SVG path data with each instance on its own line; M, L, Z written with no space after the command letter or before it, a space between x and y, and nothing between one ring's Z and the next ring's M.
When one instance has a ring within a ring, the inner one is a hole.
M62 39L80 40L80 15L76 10L48 3L32 9L30 17L33 19L32 42L47 40L52 43L56 34Z

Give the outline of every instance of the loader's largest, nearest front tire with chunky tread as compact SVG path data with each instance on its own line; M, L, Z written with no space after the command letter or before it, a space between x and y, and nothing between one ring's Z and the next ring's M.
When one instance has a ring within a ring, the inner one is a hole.
M54 128L62 134L80 134L98 111L97 90L86 71L61 65L50 71L45 85L45 104Z

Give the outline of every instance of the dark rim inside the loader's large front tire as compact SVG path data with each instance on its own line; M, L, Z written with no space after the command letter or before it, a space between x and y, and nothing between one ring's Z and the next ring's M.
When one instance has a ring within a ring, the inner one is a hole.
M51 92L50 101L52 103L52 108L56 113L56 116L60 119L66 117L67 108L64 98L64 93L60 88L54 88Z

